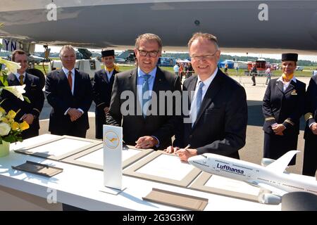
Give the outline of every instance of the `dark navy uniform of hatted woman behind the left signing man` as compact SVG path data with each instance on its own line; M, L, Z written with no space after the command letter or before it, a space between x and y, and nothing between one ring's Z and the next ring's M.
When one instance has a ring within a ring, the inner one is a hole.
M106 70L99 70L94 73L94 85L92 86L94 103L96 103L96 139L102 139L102 127L106 124L104 108L110 106L111 91L114 76L118 71L113 70L111 79L108 80Z

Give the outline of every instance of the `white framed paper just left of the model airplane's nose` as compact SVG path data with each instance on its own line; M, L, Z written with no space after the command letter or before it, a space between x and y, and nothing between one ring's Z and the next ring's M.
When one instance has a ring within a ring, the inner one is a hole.
M162 154L136 172L181 181L192 169L192 165L181 162L180 158Z

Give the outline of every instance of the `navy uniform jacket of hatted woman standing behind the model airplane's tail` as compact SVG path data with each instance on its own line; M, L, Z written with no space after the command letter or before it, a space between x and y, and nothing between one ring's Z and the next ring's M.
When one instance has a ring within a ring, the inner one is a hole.
M283 91L283 84L278 79L271 79L263 98L264 157L278 159L289 150L297 149L299 118L304 110L306 84L291 81ZM283 136L274 134L272 124L283 124L286 129ZM294 163L292 163L294 164Z

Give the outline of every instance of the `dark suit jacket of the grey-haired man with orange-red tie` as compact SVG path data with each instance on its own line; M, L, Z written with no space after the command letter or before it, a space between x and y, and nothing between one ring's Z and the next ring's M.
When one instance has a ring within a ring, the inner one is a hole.
M46 98L52 106L49 116L49 131L54 134L68 134L72 129L89 129L88 110L92 104L92 84L89 75L75 69L74 94L63 70L54 70L46 76ZM68 108L80 108L84 114L74 122L70 121Z

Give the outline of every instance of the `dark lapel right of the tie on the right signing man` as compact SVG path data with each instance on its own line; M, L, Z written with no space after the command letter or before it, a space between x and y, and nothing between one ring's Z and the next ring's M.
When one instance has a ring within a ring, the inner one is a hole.
M222 79L222 74L220 73L220 70L218 70L216 77L213 78L213 81L211 82L211 84L209 85L208 90L206 91L206 94L204 96L204 99L201 103L196 121L194 122L194 127L196 126L197 122L199 121L201 115L204 114L204 111L206 110L206 108L210 105L211 101L213 100L213 98L218 94L218 91L220 90L220 87L223 83L223 79Z

